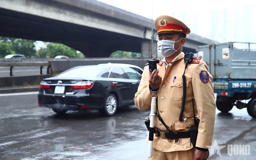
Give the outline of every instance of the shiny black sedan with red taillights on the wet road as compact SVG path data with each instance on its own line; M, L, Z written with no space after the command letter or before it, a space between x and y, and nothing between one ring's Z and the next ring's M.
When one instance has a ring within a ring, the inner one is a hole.
M113 116L117 107L133 105L141 74L130 67L78 66L40 84L38 105L63 114L68 110L99 109Z

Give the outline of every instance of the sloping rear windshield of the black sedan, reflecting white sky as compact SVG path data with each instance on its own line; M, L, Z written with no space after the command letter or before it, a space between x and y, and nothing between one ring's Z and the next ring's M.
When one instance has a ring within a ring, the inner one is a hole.
M56 77L59 77L59 78L95 77L99 75L103 70L105 70L105 68L102 66L84 66L84 67L71 69L69 71L66 71L64 73L57 75Z

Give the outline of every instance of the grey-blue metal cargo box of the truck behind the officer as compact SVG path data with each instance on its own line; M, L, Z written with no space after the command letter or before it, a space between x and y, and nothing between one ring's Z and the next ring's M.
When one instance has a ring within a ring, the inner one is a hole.
M198 47L197 57L203 58L216 78L256 79L256 50L250 49L250 45L252 48L256 44L228 42L203 45Z

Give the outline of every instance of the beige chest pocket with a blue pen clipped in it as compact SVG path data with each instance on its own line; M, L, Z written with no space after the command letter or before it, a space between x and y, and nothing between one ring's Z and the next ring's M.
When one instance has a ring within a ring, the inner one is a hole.
M188 87L189 81L186 80L186 87ZM183 95L183 84L182 80L175 80L171 83L170 95L172 100L182 100Z

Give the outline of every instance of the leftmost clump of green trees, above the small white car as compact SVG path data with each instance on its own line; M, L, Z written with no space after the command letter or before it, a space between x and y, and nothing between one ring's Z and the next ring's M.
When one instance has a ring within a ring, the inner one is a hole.
M0 37L0 57L3 58L8 54L24 54L27 58L35 55L35 43L36 41Z

